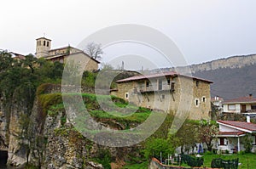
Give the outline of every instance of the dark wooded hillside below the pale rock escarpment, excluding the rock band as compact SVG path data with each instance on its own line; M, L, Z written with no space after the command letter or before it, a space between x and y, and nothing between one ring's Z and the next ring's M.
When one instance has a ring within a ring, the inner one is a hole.
M203 77L213 82L211 94L224 99L234 99L253 93L256 96L256 64L241 68L220 68L197 71L194 76Z

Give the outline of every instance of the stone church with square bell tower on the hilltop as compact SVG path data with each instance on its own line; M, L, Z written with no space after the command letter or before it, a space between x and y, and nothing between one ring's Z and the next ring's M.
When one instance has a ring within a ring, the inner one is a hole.
M83 62L87 63L84 70L98 70L98 64L100 63L96 59L91 58L88 54L85 54L79 48L73 48L70 46L63 48L51 49L51 40L45 37L37 39L36 44L36 57L44 58L46 60L61 63L66 63L68 57L79 57L84 59Z

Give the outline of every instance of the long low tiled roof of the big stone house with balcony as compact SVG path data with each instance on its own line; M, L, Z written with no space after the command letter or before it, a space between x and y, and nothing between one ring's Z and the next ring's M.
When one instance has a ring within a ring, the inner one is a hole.
M119 80L117 82L138 81L138 80L151 79L151 78L160 77L160 76L185 76L185 75L178 74L176 71L166 71L166 72L149 74L149 75L131 76L131 77ZM185 76L185 77L189 77L189 78L193 78L193 79L196 79L196 80L212 83L211 81L208 81L207 79L202 79L202 78L195 77L195 76Z

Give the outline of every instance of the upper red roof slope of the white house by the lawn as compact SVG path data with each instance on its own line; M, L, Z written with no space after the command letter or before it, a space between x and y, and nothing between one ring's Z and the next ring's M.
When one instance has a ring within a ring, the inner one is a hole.
M245 129L251 132L256 132L256 124L250 122L241 122L241 121L218 121L218 123L222 123L225 125L230 125L232 127L238 127L241 129Z

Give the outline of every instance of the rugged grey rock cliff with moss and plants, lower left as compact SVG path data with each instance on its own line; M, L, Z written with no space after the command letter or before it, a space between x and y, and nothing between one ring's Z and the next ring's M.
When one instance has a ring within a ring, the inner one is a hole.
M29 164L48 169L102 169L108 168L110 162L118 166L114 163L122 164L129 156L139 156L139 145L109 148L84 138L67 121L65 109L58 107L61 101L60 88L43 86L44 91L40 93L44 93L44 97L37 96L30 114L27 114L24 104L18 104L17 100L14 100L10 112L0 104L3 121L0 135L6 145L5 149L8 149L9 166L23 168ZM91 91L88 89L88 92ZM50 105L54 105L53 108ZM102 123L106 127L125 127L115 121L109 123L105 120Z

